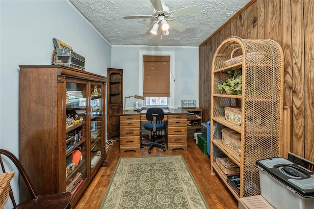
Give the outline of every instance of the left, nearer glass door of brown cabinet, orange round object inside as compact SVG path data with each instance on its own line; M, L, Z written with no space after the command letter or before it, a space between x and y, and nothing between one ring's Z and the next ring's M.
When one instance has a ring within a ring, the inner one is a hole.
M87 179L87 82L66 82L66 191L75 193Z

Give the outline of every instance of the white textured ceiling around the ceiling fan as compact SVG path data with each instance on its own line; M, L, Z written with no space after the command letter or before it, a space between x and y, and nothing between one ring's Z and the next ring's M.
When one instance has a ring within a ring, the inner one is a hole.
M146 34L156 19L123 19L123 16L153 15L150 0L70 0L78 11L111 45L199 46L250 0L161 0L170 11L198 5L201 12L173 17L186 27L169 35Z

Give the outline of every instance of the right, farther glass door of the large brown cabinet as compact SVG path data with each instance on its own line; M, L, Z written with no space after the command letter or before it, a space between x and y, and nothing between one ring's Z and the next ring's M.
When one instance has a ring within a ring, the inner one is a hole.
M103 147L103 92L102 83L91 84L91 98L90 98L90 159L91 159L91 173L94 167L102 159L102 147Z

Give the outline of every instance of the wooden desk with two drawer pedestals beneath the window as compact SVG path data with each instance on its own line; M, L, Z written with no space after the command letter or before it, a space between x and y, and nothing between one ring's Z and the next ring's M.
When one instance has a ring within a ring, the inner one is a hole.
M179 107L169 108L164 114L166 123L165 142L168 151L187 150L187 111ZM146 120L146 113L124 111L120 115L120 152L141 151L141 122Z

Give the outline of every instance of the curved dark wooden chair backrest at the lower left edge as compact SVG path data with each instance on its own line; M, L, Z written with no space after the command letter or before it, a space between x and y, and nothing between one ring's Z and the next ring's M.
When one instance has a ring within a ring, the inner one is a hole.
M36 194L36 192L34 190L34 187L31 184L31 182L29 180L29 177L28 177L24 167L22 166L20 160L17 157L15 157L12 153L10 153L9 151L0 149L0 163L1 163L1 168L2 168L2 172L3 173L5 173L6 171L5 171L5 168L4 168L4 164L3 164L3 161L2 161L2 156L1 155L4 155L4 156L8 157L15 164L15 166L17 167L17 169L20 172L20 175L22 176L22 178L24 179L24 181L26 183L26 186L28 188L29 193L31 194L31 197L33 199L37 199L37 194ZM10 198L12 200L13 207L17 208L11 188L10 188L10 191L9 191L9 195L10 195Z

